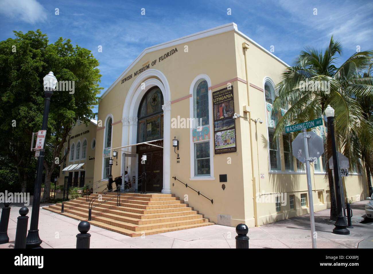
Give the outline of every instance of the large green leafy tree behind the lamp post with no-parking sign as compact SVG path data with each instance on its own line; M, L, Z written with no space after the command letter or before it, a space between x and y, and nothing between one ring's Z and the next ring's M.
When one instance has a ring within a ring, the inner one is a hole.
M41 128L43 119L43 77L53 71L58 81L70 81L68 85L61 85L61 82L58 85L57 82L58 90L51 97L48 145L44 146L46 156L43 163L46 174L42 201L47 201L53 170L67 155L61 155L61 151L65 141L69 143L72 125L77 119L88 125L95 116L92 108L98 103L97 94L102 89L98 84L101 77L97 68L99 63L91 51L78 45L74 47L69 39L60 37L48 44L47 35L39 29L26 34L14 33L16 38L0 42L0 115L4 117L0 127L9 136L9 139L0 141L0 148L1 153L12 159L21 170L22 190L26 189L23 174L32 161L32 132ZM16 126L12 125L14 121Z

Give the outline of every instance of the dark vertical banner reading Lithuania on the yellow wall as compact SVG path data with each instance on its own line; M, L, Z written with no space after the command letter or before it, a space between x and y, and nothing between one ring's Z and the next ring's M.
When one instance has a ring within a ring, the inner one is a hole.
M215 154L236 152L236 125L233 119L233 85L212 93Z

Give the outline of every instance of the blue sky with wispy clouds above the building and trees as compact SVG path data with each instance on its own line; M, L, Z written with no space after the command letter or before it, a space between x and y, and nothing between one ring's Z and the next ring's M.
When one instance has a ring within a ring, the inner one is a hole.
M101 93L144 48L230 22L267 50L273 45L273 54L290 65L306 45L324 49L331 35L344 47L340 62L357 46L373 49L372 0L0 0L1 40L14 38L13 30L41 29L51 43L63 37L88 48L100 62Z

